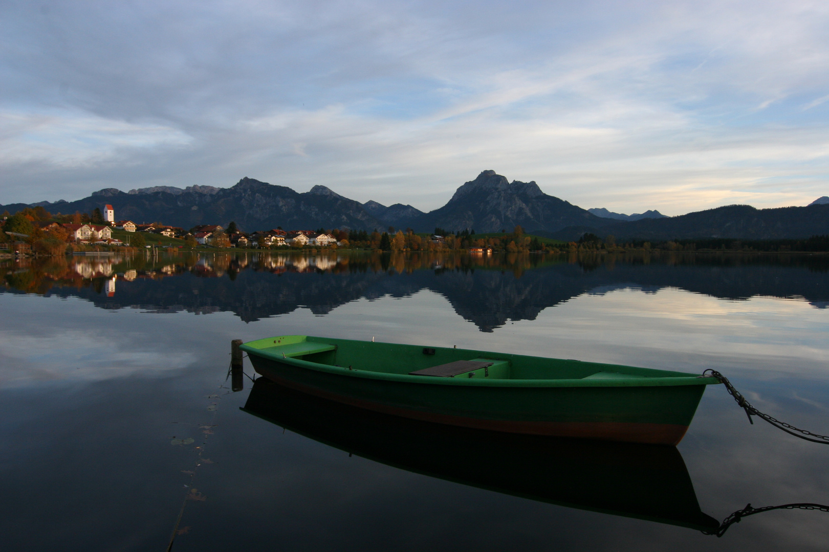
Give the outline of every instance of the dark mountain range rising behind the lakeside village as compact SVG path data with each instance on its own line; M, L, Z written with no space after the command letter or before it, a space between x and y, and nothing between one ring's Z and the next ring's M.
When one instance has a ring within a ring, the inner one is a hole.
M507 180L494 170L484 170L455 190L448 203L424 213L411 205L388 207L376 201L365 204L316 185L298 193L287 186L243 178L230 188L213 186L154 186L123 192L106 188L77 201L0 205L0 212L42 206L51 213L90 213L112 204L118 219L135 223L162 222L182 228L230 221L247 231L277 228L353 228L372 230L389 226L431 232L474 229L478 233L511 231L521 225L526 232L563 240L584 233L613 234L618 239L664 240L674 238L808 238L829 234L829 198L807 207L755 209L728 205L676 217L658 211L617 214L608 209L582 209L545 194L535 181ZM597 216L598 215L598 216Z

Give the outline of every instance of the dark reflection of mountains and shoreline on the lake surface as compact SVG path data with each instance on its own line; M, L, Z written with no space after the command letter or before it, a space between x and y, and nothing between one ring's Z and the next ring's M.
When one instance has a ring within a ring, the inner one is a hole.
M510 319L535 319L578 295L622 288L676 287L720 299L773 296L829 305L829 259L822 256L217 255L50 262L8 266L7 290L79 296L106 309L230 310L245 321L299 307L327 314L360 298L433 290L482 331Z

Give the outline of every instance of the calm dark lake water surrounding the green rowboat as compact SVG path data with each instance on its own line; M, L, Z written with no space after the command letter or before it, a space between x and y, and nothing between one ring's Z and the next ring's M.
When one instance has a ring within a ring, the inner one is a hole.
M654 449L444 431L227 379L231 339L279 334L715 368L827 434L827 256L76 256L0 275L4 550L166 550L180 514L173 550L829 543L823 511L701 532L747 503L829 504L829 447L749 425L723 386Z

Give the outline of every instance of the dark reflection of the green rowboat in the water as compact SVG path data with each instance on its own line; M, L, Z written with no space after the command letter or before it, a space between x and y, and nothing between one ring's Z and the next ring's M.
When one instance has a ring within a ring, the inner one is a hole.
M697 530L700 511L673 447L556 439L432 424L342 405L259 378L243 410L337 449L516 497Z

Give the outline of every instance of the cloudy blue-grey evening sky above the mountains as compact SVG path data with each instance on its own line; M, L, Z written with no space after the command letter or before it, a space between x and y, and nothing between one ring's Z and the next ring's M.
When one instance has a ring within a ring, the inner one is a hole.
M437 209L829 195L829 2L0 1L0 204L229 187Z

